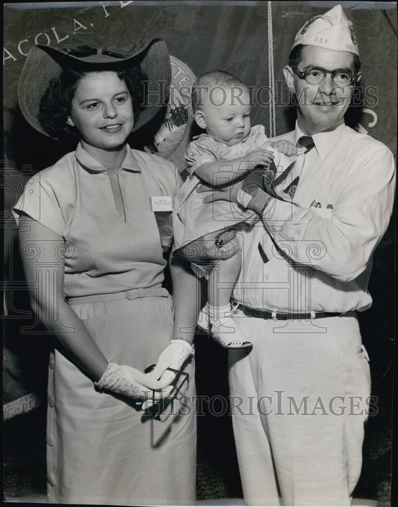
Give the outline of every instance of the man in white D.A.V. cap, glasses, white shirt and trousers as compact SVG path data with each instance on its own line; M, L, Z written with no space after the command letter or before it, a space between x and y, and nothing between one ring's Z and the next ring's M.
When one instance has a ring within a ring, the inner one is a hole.
M350 505L370 395L355 311L372 303L394 163L344 124L361 72L341 6L299 30L284 75L298 107L284 138L306 151L251 191L262 223L244 234L233 299L253 350L229 352L237 457L249 505ZM235 198L228 188L205 202L217 199Z

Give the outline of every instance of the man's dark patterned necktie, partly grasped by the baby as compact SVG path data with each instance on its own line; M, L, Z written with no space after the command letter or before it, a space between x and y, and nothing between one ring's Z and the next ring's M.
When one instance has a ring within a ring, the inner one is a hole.
M296 147L297 149L305 148L305 152L298 155L297 159L290 164L283 172L282 174L278 175L275 178L276 174L276 167L274 164L271 164L270 167L264 171L263 173L263 190L265 190L269 195L278 197L275 188L278 185L283 184L287 178L290 180L290 184L283 190L280 190L283 194L287 194L291 199L293 199L294 194L296 193L297 186L300 179L301 170L304 165L304 159L305 155L314 148L315 144L311 136L303 135L301 136L297 143ZM273 167L272 167L273 166ZM280 198L280 197L278 197ZM272 240L272 238L270 237ZM275 245L276 246L276 245ZM277 248L277 246L276 246ZM278 248L277 248L278 249ZM261 243L258 244L258 251L260 253L261 259L264 263L268 262L268 257L266 256L266 253L264 252L263 247L261 246Z

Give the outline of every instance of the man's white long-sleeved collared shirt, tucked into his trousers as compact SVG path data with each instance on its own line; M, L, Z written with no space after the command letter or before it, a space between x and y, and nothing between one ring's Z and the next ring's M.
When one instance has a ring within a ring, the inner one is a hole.
M296 143L302 135L296 124L279 138ZM372 304L372 253L394 199L392 153L343 123L312 138L315 148L305 155L293 201L270 199L264 223L242 232L236 302L270 311L341 313Z

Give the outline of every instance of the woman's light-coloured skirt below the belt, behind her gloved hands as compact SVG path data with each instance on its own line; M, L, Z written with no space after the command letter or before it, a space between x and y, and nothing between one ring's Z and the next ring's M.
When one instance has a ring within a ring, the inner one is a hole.
M155 364L173 332L166 289L73 298L105 357L143 371ZM109 297L123 299L107 300ZM129 299L131 298L131 299ZM73 333L73 329L70 328ZM55 350L50 356L47 468L50 503L178 505L195 500L196 423L194 363L189 387L165 422L134 400L99 391Z

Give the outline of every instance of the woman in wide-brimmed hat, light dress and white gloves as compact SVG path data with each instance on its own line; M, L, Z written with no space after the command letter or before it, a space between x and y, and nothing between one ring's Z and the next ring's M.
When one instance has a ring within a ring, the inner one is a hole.
M141 41L128 55L33 47L21 74L26 120L54 138L79 139L75 152L29 179L15 205L32 305L55 340L51 503L194 501L194 411L182 415L169 405L162 424L142 410L152 395L174 395L179 379L165 372L170 366L184 364L187 395L194 394L195 309L183 306L193 275L171 264L173 331L172 300L162 287L171 213L156 211L160 196L171 203L180 178L170 162L126 143L164 103L170 76L162 40ZM154 87L146 97L141 82ZM160 354L155 373L142 373Z

